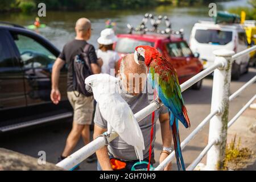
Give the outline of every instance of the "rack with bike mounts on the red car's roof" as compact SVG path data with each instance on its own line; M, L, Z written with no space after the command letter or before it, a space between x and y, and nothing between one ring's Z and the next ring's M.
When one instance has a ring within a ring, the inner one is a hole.
M146 23L148 22L148 19L150 20L150 24L152 28L147 28ZM164 24L166 25L166 28L164 30L159 30L159 24L162 23L162 20L164 19ZM147 32L154 32L156 34L163 34L168 35L170 38L171 35L180 35L180 38L183 39L183 28L181 28L179 31L174 31L171 28L171 22L167 16L159 15L157 19L155 19L155 16L152 14L146 13L142 19L141 24L139 24L138 27L134 28L131 26L131 24L127 24L127 27L129 28L129 34L133 34L133 32L139 32L140 34L146 34Z

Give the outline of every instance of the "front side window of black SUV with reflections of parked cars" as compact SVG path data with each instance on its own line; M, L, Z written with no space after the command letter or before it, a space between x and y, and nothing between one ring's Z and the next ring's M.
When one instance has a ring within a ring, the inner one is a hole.
M56 56L34 39L24 35L13 35L24 68L51 68Z

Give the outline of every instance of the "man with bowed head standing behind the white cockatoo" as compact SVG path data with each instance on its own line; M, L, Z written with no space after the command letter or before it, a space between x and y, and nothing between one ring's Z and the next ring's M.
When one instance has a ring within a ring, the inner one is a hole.
M125 56L121 61L119 76L122 79L123 88L125 88L124 93L122 93L121 96L129 104L134 114L148 106L153 98L153 93L149 93L146 86L146 72L147 68L144 66L144 64L138 65L135 63L133 54ZM136 75L140 77L137 83L135 81L137 79L135 78ZM160 154L159 163L162 162L171 152L172 135L170 131L169 115L167 108L162 106L160 109L155 111L151 163L154 163L154 141L156 121L158 120L160 121L160 129L163 141L163 150ZM97 138L107 130L107 122L102 117L98 105L96 106L94 123L95 125L93 138ZM139 122L139 126L141 127L144 137L145 150L143 151L143 156L146 162L148 162L149 156L151 123L151 115L148 115L146 118ZM119 163L121 164L119 167L122 166L122 170L129 171L133 165L138 162L134 147L125 143L119 137L110 142L108 147L103 147L96 151L96 154L98 158L98 170L111 171L116 169L118 167L116 164ZM147 165L140 164L137 166L137 169L139 168L147 168ZM165 170L169 169L170 164L165 168Z

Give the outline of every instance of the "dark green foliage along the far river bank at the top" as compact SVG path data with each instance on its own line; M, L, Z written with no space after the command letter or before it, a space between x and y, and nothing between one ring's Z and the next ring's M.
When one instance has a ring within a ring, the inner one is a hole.
M229 1L229 0L221 0ZM35 10L38 3L45 3L47 10L104 10L104 9L142 9L157 5L172 4L173 6L207 5L214 0L0 0L0 11L20 9L23 12ZM218 1L220 2L220 1ZM249 0L254 11L247 14L255 16L255 0ZM235 11L235 10L230 10ZM237 10L238 11L238 10Z

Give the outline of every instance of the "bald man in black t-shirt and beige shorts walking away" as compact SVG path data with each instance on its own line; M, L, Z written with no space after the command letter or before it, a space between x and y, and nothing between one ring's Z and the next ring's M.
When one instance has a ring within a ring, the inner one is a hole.
M67 158L71 154L73 148L75 148L81 135L84 140L84 144L88 144L90 140L89 126L93 117L93 96L86 97L79 93L74 87L73 83L73 61L76 55L80 55L84 52L85 46L88 44L87 40L91 35L91 23L87 18L80 18L76 22L75 26L76 38L71 42L65 44L63 51L57 57L52 68L52 90L51 100L53 104L59 104L61 99L59 92L59 75L60 69L64 64L68 65L68 77L67 77L67 95L68 100L74 109L73 126L71 133L69 133L66 146L59 160ZM100 73L100 64L97 61L95 49L92 45L88 45L87 55L90 61L90 67L93 74ZM88 159L90 162L90 158Z

